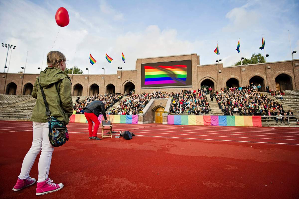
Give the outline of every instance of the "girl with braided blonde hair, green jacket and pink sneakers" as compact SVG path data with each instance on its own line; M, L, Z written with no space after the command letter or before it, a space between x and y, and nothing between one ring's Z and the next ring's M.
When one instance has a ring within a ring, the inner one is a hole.
M65 60L65 56L61 52L50 51L47 54L48 67L40 72L39 78L36 78L32 91L32 97L36 98L36 104L31 117L33 123L33 141L30 150L25 155L21 173L18 176L16 185L13 187L13 191L19 191L36 182L36 179L31 178L29 173L39 151L42 152L38 163L39 174L36 195L55 192L63 187L62 183L53 183L53 180L48 177L54 147L51 145L48 137L49 124L39 84L45 92L51 116L54 116L65 125L68 124L69 117L73 113L73 102L71 81L64 71L66 67Z

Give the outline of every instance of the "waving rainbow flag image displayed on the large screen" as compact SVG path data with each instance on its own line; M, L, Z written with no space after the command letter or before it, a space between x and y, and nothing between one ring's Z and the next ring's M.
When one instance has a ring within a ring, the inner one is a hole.
M144 85L185 83L187 79L186 65L144 66Z

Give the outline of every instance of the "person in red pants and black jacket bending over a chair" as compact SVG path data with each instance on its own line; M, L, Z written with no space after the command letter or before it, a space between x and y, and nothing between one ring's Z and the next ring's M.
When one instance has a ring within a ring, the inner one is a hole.
M104 116L105 121L107 122L107 116L105 111L105 104L106 101L92 101L90 104L85 107L84 115L86 117L86 120L88 122L88 131L89 131L89 139L94 140L100 140L100 138L97 137L97 130L100 126L100 121L98 120L98 117L100 116L100 113ZM92 125L94 122L94 130L92 132Z

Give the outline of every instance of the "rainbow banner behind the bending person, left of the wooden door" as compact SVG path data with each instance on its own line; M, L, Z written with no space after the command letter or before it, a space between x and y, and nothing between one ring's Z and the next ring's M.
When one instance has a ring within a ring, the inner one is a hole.
M138 115L106 115L107 120L112 124L138 124ZM100 123L104 120L103 115L98 117ZM70 117L70 122L87 123L86 117L83 114L73 114Z

